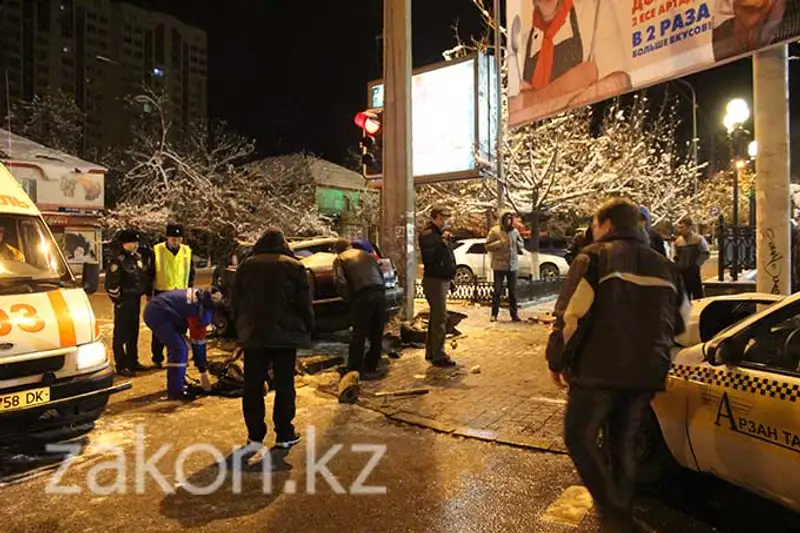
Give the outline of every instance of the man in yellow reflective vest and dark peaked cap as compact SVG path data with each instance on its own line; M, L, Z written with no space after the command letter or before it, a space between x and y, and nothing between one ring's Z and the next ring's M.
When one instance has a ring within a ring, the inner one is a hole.
M192 249L183 244L185 231L181 224L167 224L165 242L153 248L153 261L149 273L152 282L150 297L162 292L188 289L194 285L194 265ZM153 363L158 367L164 364L164 344L153 336L151 343Z

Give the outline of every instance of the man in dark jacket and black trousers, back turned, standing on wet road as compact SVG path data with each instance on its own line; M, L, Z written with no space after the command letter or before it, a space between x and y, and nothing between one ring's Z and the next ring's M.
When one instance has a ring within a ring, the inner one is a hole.
M297 349L311 345L314 308L305 267L292 256L278 228L258 240L252 255L236 271L231 308L239 344L244 348L242 408L249 445L260 447L253 462L264 457L264 385L273 369L276 446L300 442L295 416L294 368Z

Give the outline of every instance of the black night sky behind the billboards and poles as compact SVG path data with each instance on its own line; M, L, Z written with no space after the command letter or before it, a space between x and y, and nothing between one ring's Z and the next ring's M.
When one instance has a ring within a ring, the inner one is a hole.
M134 3L208 31L210 115L256 139L262 154L307 150L341 163L348 148L358 145L352 117L365 107L367 82L381 77L381 0ZM441 52L455 44L456 24L464 38L484 31L470 0L414 2L414 67L441 61ZM790 65L795 86L800 61ZM752 102L751 73L751 62L742 60L686 78L698 95L701 158L708 153L709 134L723 130L728 100ZM661 91L656 88L653 96ZM691 105L684 101L682 111L681 134L688 141ZM795 122L800 99L792 111Z

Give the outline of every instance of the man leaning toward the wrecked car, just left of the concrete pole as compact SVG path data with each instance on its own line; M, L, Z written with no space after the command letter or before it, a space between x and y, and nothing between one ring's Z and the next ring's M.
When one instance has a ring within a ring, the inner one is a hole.
M346 239L336 241L334 252L338 254L333 260L336 290L350 304L353 315L347 369L363 372L366 379L380 377L378 363L386 314L383 274L372 255L354 248ZM364 359L367 338L369 353Z

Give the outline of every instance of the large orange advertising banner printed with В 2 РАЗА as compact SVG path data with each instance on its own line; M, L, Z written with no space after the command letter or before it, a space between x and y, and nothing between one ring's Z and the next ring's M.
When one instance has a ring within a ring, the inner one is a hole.
M800 0L508 0L509 126L800 36Z

